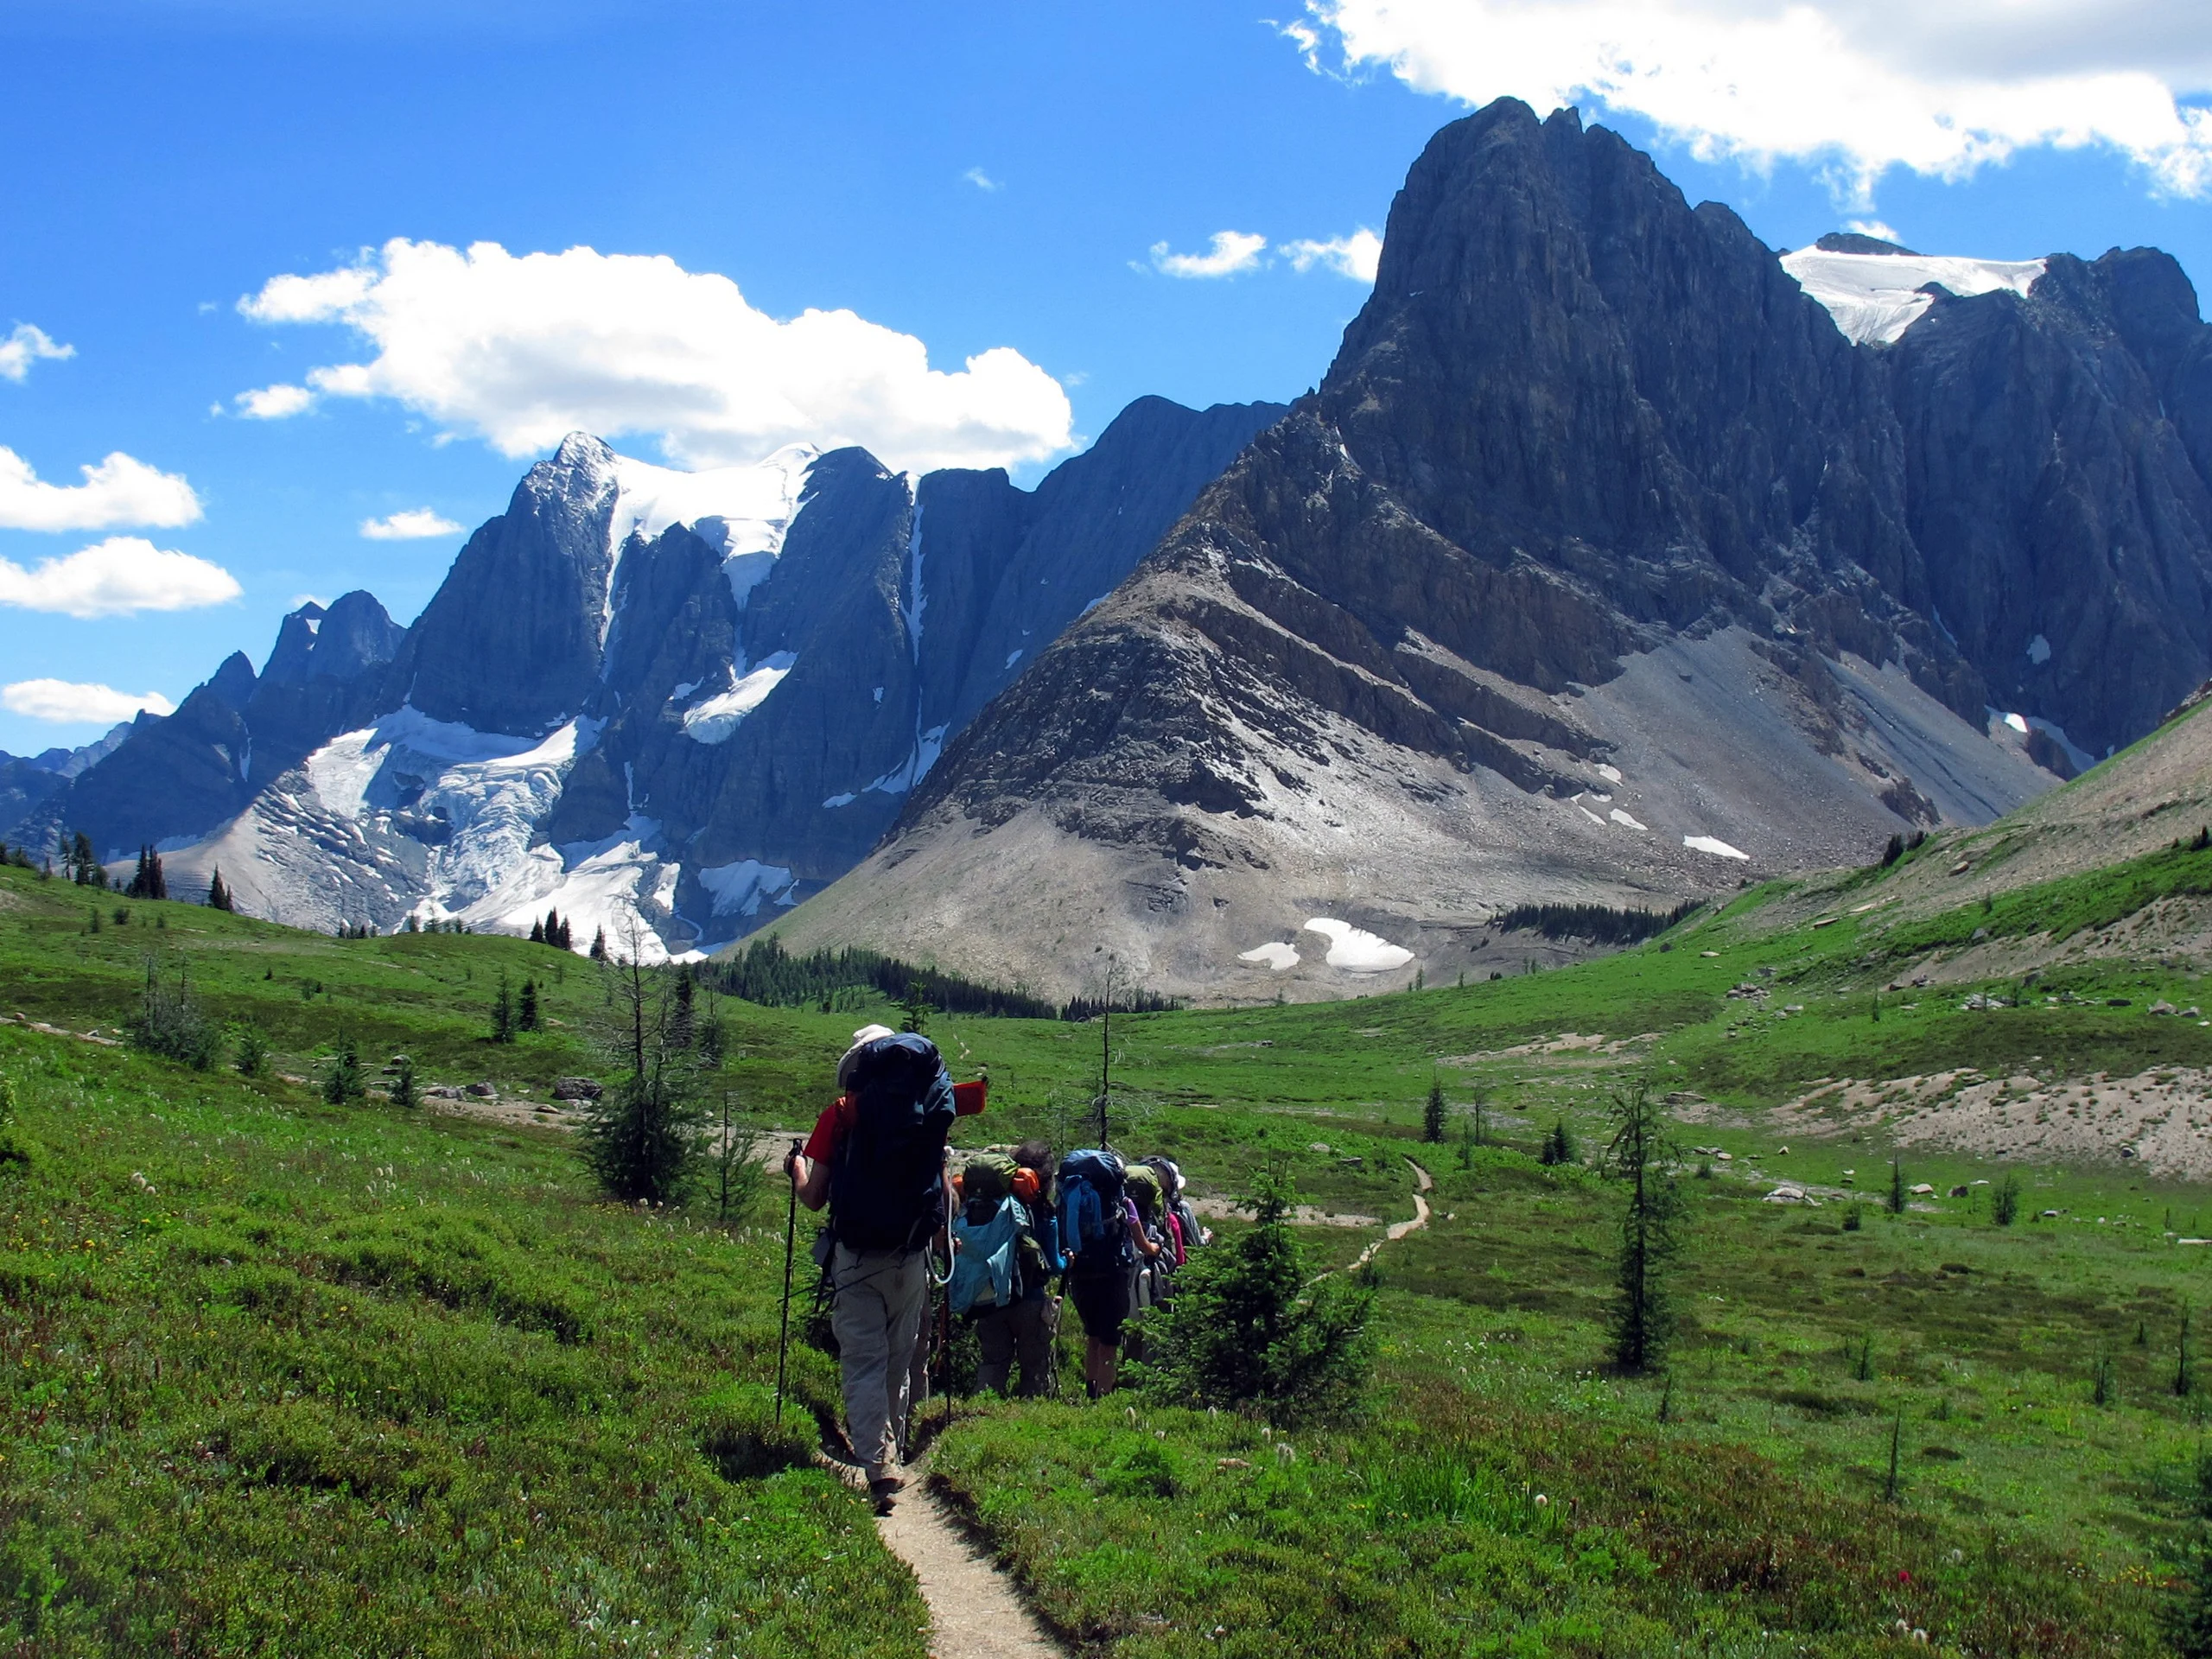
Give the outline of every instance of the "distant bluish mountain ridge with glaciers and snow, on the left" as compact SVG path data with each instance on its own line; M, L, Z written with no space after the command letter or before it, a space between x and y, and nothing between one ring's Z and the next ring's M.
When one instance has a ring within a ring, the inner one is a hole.
M557 907L648 956L728 940L860 858L1279 414L1141 398L1035 491L858 449L675 473L577 434L411 628L303 606L27 827L164 845L179 889L221 865L303 925Z

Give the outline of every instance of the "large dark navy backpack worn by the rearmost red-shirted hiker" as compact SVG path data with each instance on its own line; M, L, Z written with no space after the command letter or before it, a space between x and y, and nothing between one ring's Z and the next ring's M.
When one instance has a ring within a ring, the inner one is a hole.
M929 1037L876 1037L847 1073L852 1124L830 1170L830 1217L847 1250L918 1250L945 1219L953 1079Z

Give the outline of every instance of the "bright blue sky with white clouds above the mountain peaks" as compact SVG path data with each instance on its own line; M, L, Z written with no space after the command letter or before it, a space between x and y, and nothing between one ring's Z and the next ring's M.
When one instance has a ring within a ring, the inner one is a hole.
M1542 106L1582 88L1588 115L1655 148L1690 199L1728 201L1774 246L1865 219L1927 252L2093 257L2157 243L2199 281L2212 274L2212 206L2192 195L2212 173L2192 170L2203 159L2192 146L2212 153L2212 135L2188 128L2197 137L2177 144L2157 122L2130 126L2128 97L2157 104L2161 84L2181 97L2152 111L2168 126L2201 106L2205 29L2172 9L2161 33L2163 0L2119 9L2152 44L2135 58L2112 44L2112 62L2088 64L2095 84L2068 66L2079 31L2042 46L2048 62L2015 53L1989 66L1958 42L1885 44L1834 131L1776 126L1772 108L1730 106L1708 122L1697 111L1717 108L1714 95L1681 75L1586 75L1575 53L1617 20L1597 0L1579 13L1579 0L1533 4L1433 0L1431 33L1402 40L1378 31L1416 27L1405 18L1420 4L11 0L0 7L0 53L18 66L0 102L11 157L0 343L15 343L20 378L0 345L0 447L44 484L80 484L82 467L117 451L142 476L111 480L119 504L97 524L88 507L51 495L38 495L51 511L20 509L33 493L11 498L0 476L0 504L18 500L9 522L69 522L0 529L0 684L175 701L232 648L259 664L303 593L367 586L414 617L465 531L504 507L538 427L566 405L533 387L524 416L511 376L471 380L453 345L471 316L482 325L467 307L498 312L509 290L460 254L425 254L416 270L374 252L392 239L666 257L672 265L593 257L509 274L533 283L531 303L606 292L637 307L641 332L604 347L617 358L644 349L637 341L686 345L684 330L697 330L699 363L726 378L743 378L723 365L745 361L745 341L772 334L799 385L812 385L810 352L865 372L843 405L768 418L759 409L776 387L765 387L712 416L657 422L666 369L624 378L626 363L599 363L604 385L577 407L628 409L637 429L615 440L626 453L728 462L790 436L880 431L880 447L905 447L896 460L998 456L1024 480L1146 392L1203 405L1310 387L1365 285L1325 257L1301 272L1285 248L1380 230L1429 133L1495 91ZM2042 11L2090 15L2070 0L2042 0ZM1692 44L1699 29L1734 27L1723 0L1679 0L1668 15ZM1310 53L1285 22L1307 31ZM2099 40L2119 35L2106 27ZM1644 49L1657 62L1668 42ZM1834 69L1774 51L1776 82ZM2026 117L1993 102L1991 88L2022 86L2037 108L2073 86L2077 126L2104 137L2037 142ZM2011 155L1944 177L1971 157L1916 150L1916 97L2000 108L1986 124ZM1851 108L1867 111L1865 131L1849 126ZM1265 239L1228 276L1172 276L1152 252L1206 254L1225 230ZM332 272L354 272L338 281L367 283L369 301L268 288ZM259 316L241 314L250 296ZM823 338L774 327L810 307L843 307L869 327ZM564 349L560 330L577 325L564 319L526 343L524 369ZM385 358L356 325L392 332ZM971 356L1002 356L995 372L925 385L896 336L953 376ZM438 349L449 356L425 367ZM374 372L352 389L319 387L312 372L332 365ZM305 407L250 418L239 396L265 387L301 387L276 403ZM953 405L960 420L945 414ZM805 434L807 422L827 429ZM177 504L181 487L148 482L179 473L197 518ZM363 520L403 511L462 529L361 533ZM150 546L38 573L115 540ZM146 599L184 608L131 611ZM95 708L86 697L9 701L82 714ZM100 719L0 710L0 748L18 754L100 730Z

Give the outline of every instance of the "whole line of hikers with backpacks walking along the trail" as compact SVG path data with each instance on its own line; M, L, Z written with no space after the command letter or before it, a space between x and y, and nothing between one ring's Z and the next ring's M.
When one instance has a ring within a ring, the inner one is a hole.
M931 1305L967 1321L975 1387L1055 1391L1062 1296L1084 1329L1084 1385L1115 1389L1130 1316L1166 1303L1175 1270L1210 1241L1166 1157L1108 1148L1057 1164L1046 1141L953 1155L953 1121L982 1113L989 1077L953 1084L920 1033L863 1026L836 1068L838 1097L783 1161L792 1197L830 1206L814 1248L830 1298L845 1429L878 1511L902 1486L911 1405L931 1347ZM958 1157L958 1168L953 1168Z

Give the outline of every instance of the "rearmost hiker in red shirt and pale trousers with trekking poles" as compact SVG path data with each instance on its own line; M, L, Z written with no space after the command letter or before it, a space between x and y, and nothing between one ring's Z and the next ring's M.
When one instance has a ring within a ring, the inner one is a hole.
M785 1157L799 1203L830 1206L816 1245L845 1385L845 1431L887 1513L905 1484L909 1358L929 1303L929 1245L947 1228L945 1137L982 1110L984 1084L960 1084L929 1037L863 1026L836 1068L838 1097L803 1150Z

